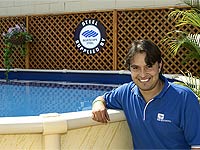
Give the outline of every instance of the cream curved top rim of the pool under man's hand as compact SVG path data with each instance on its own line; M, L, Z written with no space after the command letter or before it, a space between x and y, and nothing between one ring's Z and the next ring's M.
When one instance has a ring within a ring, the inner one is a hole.
M108 113L111 119L109 123L125 120L123 111L109 109ZM40 116L1 117L0 134L60 134L70 129L101 124L93 121L91 114L91 110L86 110L62 114L48 113Z

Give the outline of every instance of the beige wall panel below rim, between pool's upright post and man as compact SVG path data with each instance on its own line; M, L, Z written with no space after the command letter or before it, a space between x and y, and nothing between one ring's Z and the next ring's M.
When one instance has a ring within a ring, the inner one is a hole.
M126 121L69 130L61 136L61 149L132 149Z

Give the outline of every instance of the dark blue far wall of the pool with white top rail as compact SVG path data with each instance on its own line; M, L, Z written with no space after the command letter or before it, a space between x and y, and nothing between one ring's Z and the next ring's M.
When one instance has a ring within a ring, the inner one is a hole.
M130 72L99 70L40 70L10 69L10 80L65 81L76 83L123 84L131 81ZM5 79L5 69L0 69L0 79Z

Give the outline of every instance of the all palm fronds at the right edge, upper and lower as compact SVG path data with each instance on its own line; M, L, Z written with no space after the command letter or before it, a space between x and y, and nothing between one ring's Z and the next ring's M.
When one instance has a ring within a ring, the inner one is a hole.
M176 9L169 14L169 18L174 18L176 27L183 25L191 25L193 27L200 28L200 1L199 0L183 0L183 2L191 9L180 10ZM180 47L189 49L189 53L186 54L185 61L189 59L200 60L200 33L188 33L185 31L174 30L168 33L168 37L164 39L164 42L170 48L170 51L175 55ZM184 85L189 87L200 100L200 77L192 76L190 72L184 76L179 77Z

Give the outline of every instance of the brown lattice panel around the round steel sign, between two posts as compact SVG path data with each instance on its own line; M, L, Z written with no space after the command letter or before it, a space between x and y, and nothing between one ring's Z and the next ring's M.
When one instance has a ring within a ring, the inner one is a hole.
M74 32L84 19L97 19L106 28L107 42L94 55L75 48ZM34 35L30 48L30 68L112 70L112 12L29 17L29 31Z

